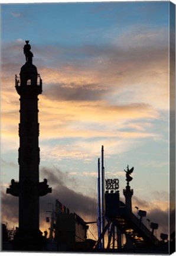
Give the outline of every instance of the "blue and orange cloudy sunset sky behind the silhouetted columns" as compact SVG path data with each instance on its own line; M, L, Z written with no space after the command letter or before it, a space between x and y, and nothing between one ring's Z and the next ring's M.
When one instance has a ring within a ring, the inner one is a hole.
M105 178L118 178L124 201L127 165L134 167L132 206L168 233L170 2L1 5L2 220L18 226L18 199L5 194L19 180L19 95L15 74L30 40L43 79L39 95L40 181L86 221L97 219L97 158ZM144 220L146 222L146 220ZM147 223L147 222L146 222Z

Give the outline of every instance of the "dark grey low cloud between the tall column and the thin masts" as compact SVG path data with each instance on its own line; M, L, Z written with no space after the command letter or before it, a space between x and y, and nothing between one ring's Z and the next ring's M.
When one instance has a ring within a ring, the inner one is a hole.
M90 218L93 211L94 199L84 196L69 188L70 183L76 185L76 179L70 177L68 172L62 172L58 168L41 168L41 176L47 178L48 184L52 188L52 194L40 198L41 216L45 216L45 209L48 203L55 205L56 199L63 203L71 212L75 212L81 217Z

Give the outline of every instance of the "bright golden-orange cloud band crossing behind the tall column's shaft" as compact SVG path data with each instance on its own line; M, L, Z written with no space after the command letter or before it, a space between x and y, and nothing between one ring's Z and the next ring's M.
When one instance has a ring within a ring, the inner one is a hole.
M15 105L11 105L10 98L15 102ZM140 123L140 128L138 123L134 123L132 126L132 122L136 120L158 119L159 113L156 110L154 111L149 105L109 105L106 101L58 102L48 100L43 95L39 98L41 142L53 138L79 137L82 139L91 139L104 137L106 139L99 139L99 143L107 141L109 151L113 152L113 149L116 147L120 148L120 151L123 151L127 145L127 148L129 148L130 143L125 142L126 139L159 138L161 136L152 133L148 129L151 127L151 123L149 122L146 125L146 129L145 123ZM18 148L19 101L17 99L18 95L15 96L15 92L4 91L4 107L2 111L4 150L8 149L9 140L11 140L11 148ZM140 130L141 127L142 131ZM120 130L123 128L133 128L133 130L121 132ZM51 130L50 136L48 136L48 130ZM115 138L119 140L120 145L116 145L116 143L114 145ZM86 148L94 148L99 151L96 143L93 145L93 142L81 141L80 144L79 142L76 143L76 147L70 153L68 150L69 146L67 147L66 145L65 148L63 146L64 151L62 150L60 152L60 149L57 149L57 153L54 153L54 148L51 149L49 146L45 149L43 146L43 152L50 151L51 158L56 155L61 158L72 156L77 159L88 157L90 152L85 153ZM93 151L92 153L95 152Z

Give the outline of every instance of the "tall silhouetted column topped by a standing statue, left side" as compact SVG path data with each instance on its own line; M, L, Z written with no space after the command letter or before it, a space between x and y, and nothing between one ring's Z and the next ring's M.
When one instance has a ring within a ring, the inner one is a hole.
M32 65L30 49L27 43L24 46L27 62L21 67L20 81L15 76L15 88L20 95L19 183L12 180L6 193L19 197L19 229L14 238L14 249L35 251L42 250L43 246L39 229L39 197L51 193L51 188L46 179L39 182L38 95L42 92L42 80Z

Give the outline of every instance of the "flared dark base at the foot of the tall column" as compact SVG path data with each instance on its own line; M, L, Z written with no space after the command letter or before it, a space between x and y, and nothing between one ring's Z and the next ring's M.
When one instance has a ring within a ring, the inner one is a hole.
M14 236L14 251L43 251L46 240L39 229L19 229Z

